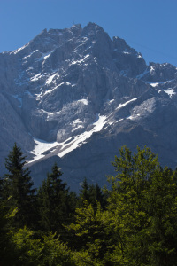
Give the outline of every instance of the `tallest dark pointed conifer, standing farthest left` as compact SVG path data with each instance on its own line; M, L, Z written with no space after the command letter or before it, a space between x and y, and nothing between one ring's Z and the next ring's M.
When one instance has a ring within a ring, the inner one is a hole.
M15 144L5 159L8 174L4 176L4 200L10 199L9 207L17 208L16 226L31 225L34 219L35 188L21 149Z

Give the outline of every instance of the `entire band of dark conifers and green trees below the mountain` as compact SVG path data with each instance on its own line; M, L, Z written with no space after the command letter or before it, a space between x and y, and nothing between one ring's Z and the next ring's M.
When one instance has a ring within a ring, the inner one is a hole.
M111 188L79 195L57 164L36 189L25 159L15 144L0 179L0 265L176 265L177 170L150 148L121 147Z

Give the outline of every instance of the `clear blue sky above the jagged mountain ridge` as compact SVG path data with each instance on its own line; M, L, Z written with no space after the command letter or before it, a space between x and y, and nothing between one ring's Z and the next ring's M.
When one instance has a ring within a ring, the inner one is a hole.
M0 0L0 52L44 28L95 22L150 61L177 66L177 0Z

